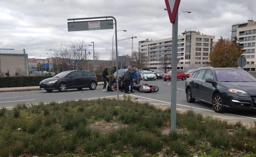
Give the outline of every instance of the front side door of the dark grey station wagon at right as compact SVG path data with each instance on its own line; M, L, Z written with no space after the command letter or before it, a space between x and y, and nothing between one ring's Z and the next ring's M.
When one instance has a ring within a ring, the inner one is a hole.
M212 83L205 82L206 79L212 79L215 81L214 76L213 76L213 71L207 70L204 77L203 77L203 82L199 84L199 98L202 100L205 100L208 103L212 102L212 93L215 89Z

